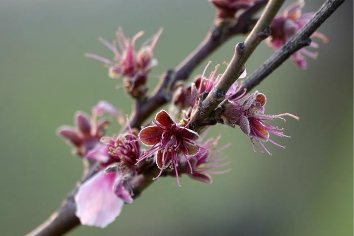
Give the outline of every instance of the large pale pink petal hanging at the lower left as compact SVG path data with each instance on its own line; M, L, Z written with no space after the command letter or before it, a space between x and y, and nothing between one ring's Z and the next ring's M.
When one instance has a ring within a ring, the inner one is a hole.
M112 190L115 178L115 173L101 170L80 186L75 214L81 224L104 228L120 214L124 202Z

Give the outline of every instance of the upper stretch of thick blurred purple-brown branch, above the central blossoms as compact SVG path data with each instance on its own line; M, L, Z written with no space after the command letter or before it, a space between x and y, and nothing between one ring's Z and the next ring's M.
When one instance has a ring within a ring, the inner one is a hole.
M243 12L234 23L228 21L217 22L199 46L180 65L162 75L153 95L135 105L134 112L130 116L130 126L140 129L146 118L153 114L157 108L171 100L171 93L174 91L176 83L187 80L202 61L231 37L247 33L255 23L254 15L267 2L268 0L258 0L251 8Z

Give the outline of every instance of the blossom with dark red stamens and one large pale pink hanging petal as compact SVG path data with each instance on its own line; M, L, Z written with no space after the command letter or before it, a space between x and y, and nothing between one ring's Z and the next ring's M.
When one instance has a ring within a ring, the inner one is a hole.
M130 129L117 138L104 137L104 144L87 154L86 158L101 165L75 195L81 224L106 227L120 214L124 203L133 202L130 180L137 174L135 162L141 154L136 135L137 131Z

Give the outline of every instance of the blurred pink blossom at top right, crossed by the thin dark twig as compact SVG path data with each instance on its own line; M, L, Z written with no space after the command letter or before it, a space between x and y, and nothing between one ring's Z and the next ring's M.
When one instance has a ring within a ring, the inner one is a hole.
M283 13L283 15L276 17L272 24L272 34L268 37L265 42L274 50L278 50L283 46L289 39L298 32L308 21L310 21L315 13L305 13L301 14L301 9L304 6L304 1L299 0L293 5L289 6ZM311 37L317 37L322 39L323 42L328 42L325 35L320 32L315 32ZM310 46L312 48L318 48L316 42L311 42ZM300 49L293 55L291 55L291 60L293 60L300 68L306 68L305 56L312 59L316 59L318 54L308 51L307 49Z

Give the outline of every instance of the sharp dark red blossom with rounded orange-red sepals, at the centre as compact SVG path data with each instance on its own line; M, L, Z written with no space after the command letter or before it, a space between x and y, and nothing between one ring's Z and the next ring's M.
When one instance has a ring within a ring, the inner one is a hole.
M156 114L155 120L154 125L143 128L139 133L140 140L151 148L139 158L137 163L157 152L156 164L161 170L156 178L170 166L175 170L177 182L181 186L177 171L179 154L182 153L189 163L187 155L196 155L199 150L199 146L194 141L199 138L199 134L186 128L188 124L184 126L183 122L176 123L164 110ZM190 163L189 166L193 172Z

